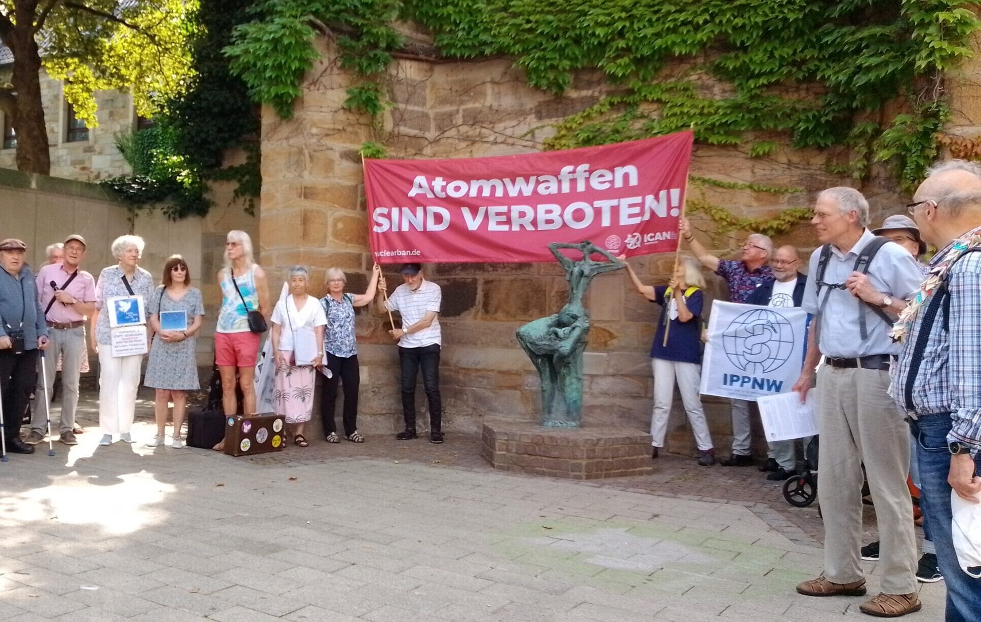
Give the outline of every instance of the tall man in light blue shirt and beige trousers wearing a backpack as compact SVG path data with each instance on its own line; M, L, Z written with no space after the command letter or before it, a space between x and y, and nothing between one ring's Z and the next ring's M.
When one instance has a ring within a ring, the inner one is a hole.
M815 318L794 390L810 389L818 358L818 496L824 517L824 575L805 581L805 596L862 596L859 563L862 463L875 503L882 553L881 593L859 609L895 617L918 611L916 540L906 488L909 435L888 394L890 363L900 346L893 319L918 289L919 266L904 248L865 228L868 202L858 190L818 194L811 225L823 246L810 257L801 308Z

